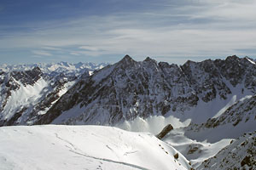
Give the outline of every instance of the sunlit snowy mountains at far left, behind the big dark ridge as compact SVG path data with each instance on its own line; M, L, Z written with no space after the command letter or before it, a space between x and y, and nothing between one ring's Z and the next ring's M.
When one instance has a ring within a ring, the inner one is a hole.
M45 114L75 82L89 77L95 65L91 64L89 68L86 65L75 65L77 70L67 63L48 65L48 70L42 64L39 65L41 69L38 66L32 68L34 65L2 66L0 126L31 125L38 121L38 116ZM9 71L12 69L14 71Z

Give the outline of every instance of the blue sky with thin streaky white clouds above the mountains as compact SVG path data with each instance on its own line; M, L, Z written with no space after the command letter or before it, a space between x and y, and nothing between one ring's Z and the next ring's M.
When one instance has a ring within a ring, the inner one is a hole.
M0 0L0 65L256 56L256 0Z

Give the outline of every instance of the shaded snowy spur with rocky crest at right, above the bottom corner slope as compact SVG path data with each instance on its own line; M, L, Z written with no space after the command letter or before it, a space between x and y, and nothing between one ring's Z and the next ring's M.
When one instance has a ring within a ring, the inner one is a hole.
M221 139L236 139L243 133L255 131L256 95L247 96L231 105L218 117L201 124L190 123L184 127L184 135L197 141L216 143Z

